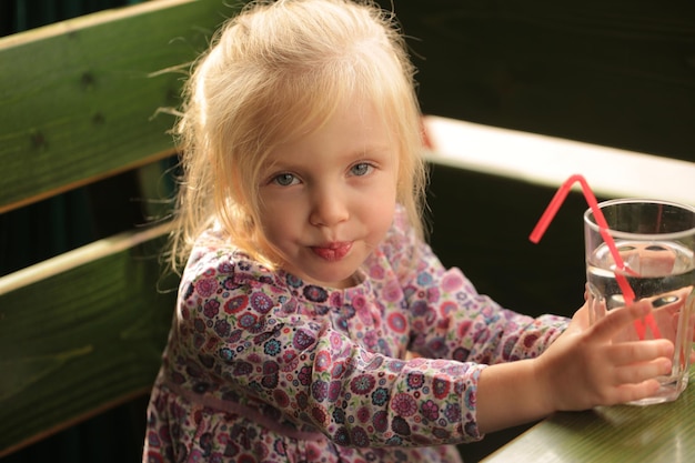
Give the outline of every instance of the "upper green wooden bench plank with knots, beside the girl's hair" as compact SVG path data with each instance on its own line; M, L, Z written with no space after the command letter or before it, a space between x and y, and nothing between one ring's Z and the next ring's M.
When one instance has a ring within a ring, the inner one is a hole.
M181 72L233 10L158 0L0 39L0 212L173 150ZM11 174L6 174L11 172Z

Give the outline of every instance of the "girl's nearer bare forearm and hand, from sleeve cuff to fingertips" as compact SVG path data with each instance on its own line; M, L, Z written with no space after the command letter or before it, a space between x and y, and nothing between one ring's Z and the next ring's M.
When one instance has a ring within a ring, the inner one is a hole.
M671 371L667 340L613 344L613 335L644 316L647 302L612 311L588 326L586 306L538 358L491 365L477 385L481 433L542 419L556 411L613 405L656 393L655 376Z

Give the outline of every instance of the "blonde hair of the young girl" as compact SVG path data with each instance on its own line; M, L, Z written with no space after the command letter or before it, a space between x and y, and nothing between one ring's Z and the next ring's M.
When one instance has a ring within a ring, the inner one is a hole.
M354 95L373 102L395 135L396 199L422 236L426 170L413 77L393 16L371 0L256 1L231 18L184 88L173 269L213 223L234 246L272 264L256 227L263 162Z

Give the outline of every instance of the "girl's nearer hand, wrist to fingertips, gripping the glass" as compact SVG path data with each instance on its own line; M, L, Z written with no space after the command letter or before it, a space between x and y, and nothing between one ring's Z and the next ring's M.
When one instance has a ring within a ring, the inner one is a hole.
M656 393L656 376L671 372L673 343L663 339L611 341L649 310L648 301L641 301L613 310L588 326L587 308L580 309L567 330L535 359L540 393L548 401L547 410L586 410Z

